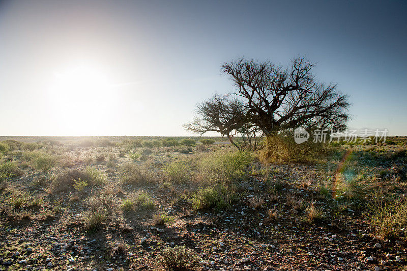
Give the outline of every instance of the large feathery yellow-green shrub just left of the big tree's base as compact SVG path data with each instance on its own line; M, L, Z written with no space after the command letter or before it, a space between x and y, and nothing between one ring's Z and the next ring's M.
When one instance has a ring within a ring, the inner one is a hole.
M217 151L199 161L203 178L212 183L230 182L247 176L253 158L248 152Z

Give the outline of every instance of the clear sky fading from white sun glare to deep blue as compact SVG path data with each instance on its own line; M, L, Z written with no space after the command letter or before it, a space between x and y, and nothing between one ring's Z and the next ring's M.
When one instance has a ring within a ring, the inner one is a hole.
M1 1L0 135L188 134L236 57L297 55L355 128L407 134L404 1Z

